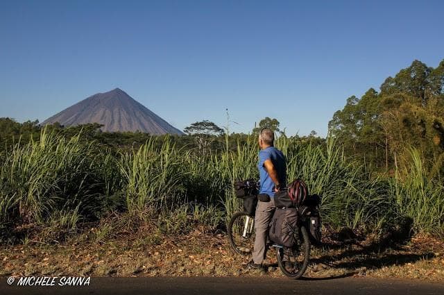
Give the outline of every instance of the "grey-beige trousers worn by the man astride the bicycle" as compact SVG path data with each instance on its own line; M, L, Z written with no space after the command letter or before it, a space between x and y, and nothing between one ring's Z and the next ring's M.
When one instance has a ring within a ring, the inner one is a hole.
M269 202L257 202L255 215L255 248L253 248L253 262L262 264L266 257L266 240L268 237L268 225L275 212L275 199Z

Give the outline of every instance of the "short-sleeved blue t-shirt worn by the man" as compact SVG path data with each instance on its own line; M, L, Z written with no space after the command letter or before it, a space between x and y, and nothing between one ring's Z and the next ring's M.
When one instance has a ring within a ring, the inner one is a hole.
M287 186L287 168L285 164L285 157L282 151L279 151L274 146L268 146L266 149L259 151L259 162L257 168L259 169L260 189L259 194L268 194L268 196L275 195L275 184L271 180L268 172L264 167L264 162L270 159L278 173L280 187Z

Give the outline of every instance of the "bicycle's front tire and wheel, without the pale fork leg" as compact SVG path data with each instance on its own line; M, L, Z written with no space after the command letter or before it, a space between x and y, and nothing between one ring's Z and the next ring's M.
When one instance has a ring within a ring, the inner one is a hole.
M242 237L241 226L244 225L243 217L251 217L246 212L236 212L232 215L228 223L228 240L233 251L239 255L250 255L253 253L255 244L255 230L247 238Z

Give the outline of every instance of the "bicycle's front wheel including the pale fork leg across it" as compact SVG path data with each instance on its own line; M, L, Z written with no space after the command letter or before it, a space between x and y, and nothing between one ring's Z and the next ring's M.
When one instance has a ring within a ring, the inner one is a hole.
M250 255L255 245L254 217L246 212L236 212L228 224L228 239L234 252L240 255Z

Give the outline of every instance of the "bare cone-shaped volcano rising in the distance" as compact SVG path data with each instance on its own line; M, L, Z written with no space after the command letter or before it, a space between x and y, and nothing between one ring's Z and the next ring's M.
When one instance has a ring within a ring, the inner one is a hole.
M46 119L42 125L56 122L63 126L99 123L103 125L101 130L108 132L138 130L155 135L183 134L119 88L89 96Z

